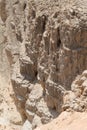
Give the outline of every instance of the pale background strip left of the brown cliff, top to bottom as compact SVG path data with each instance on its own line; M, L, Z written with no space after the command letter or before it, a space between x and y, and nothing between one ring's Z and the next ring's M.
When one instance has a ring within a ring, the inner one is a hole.
M14 103L10 66L6 56L6 1L0 0L0 130L20 130L22 117Z

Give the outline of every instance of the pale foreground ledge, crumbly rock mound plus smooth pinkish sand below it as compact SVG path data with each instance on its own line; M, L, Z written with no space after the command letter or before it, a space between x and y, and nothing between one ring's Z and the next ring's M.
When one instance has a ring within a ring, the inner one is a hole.
M87 70L77 76L63 98L63 111L58 118L35 130L87 130Z

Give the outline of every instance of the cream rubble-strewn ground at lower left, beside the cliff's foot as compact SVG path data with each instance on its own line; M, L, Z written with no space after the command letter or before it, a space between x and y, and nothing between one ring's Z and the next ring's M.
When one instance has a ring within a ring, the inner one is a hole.
M21 130L22 117L15 106L9 83L0 74L0 130Z

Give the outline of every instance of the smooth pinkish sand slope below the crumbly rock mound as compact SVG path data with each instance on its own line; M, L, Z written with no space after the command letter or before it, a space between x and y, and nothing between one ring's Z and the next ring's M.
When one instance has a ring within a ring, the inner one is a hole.
M63 112L57 119L35 130L87 130L87 112Z

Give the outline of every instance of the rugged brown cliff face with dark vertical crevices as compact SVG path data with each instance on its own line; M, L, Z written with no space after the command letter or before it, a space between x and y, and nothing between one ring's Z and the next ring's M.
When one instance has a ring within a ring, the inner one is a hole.
M0 0L0 9L16 105L35 128L67 109L63 95L87 69L87 2Z

